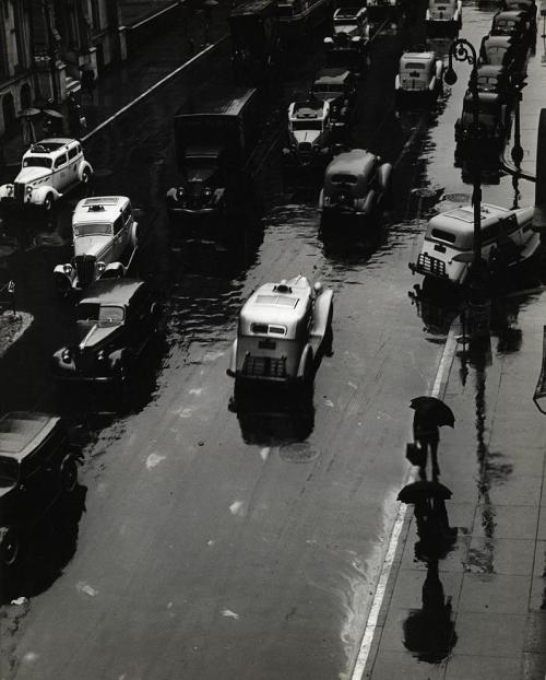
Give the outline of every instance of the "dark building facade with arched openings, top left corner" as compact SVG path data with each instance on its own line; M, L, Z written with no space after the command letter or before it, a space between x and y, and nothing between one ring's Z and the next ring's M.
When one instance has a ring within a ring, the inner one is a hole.
M19 128L19 113L63 102L127 57L118 0L0 0L0 136Z

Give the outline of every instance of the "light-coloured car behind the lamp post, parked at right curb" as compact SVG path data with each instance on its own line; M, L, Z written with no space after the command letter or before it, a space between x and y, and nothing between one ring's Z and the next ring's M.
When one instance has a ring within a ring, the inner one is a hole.
M531 257L539 245L539 235L532 231L532 207L507 210L482 203L482 257L491 268L499 261L506 267ZM462 284L474 259L474 208L461 204L435 215L428 223L413 273L453 284Z

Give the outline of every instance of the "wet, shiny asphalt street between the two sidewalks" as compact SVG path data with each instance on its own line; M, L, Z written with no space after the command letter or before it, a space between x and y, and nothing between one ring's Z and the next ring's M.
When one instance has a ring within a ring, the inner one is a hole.
M477 46L492 13L465 4L461 36ZM407 474L408 403L431 390L449 328L444 309L427 316L410 298L419 277L407 263L438 202L471 194L453 164L467 69L458 66L434 109L397 114L403 39L373 40L359 84L353 140L393 164L393 190L380 223L349 238L322 237L321 178L283 173L273 114L263 215L222 241L174 237L164 200L177 178L173 116L197 87L229 77L228 45L85 143L93 191L127 195L142 212L136 270L164 306L164 337L129 406L98 389L63 395L50 374L73 332L51 272L70 259L78 197L50 224L11 225L10 272L35 320L0 363L1 407L67 415L84 460L76 497L38 527L22 576L4 585L4 606L28 598L4 607L5 680L353 677ZM442 56L449 45L435 40ZM536 121L525 112L543 52L538 38L522 104L530 173ZM319 62L317 51L289 72L286 104ZM534 185L519 190L521 206L534 201ZM511 207L512 178L491 172L484 200ZM541 285L538 263L513 284ZM334 291L333 355L312 401L238 403L226 368L240 306L261 283L298 273Z

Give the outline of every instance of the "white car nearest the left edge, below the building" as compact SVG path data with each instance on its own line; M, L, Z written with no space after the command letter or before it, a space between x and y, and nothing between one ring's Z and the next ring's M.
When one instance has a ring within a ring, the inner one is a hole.
M13 183L0 186L0 203L51 210L55 201L79 185L86 185L93 168L75 139L43 139L23 155Z

